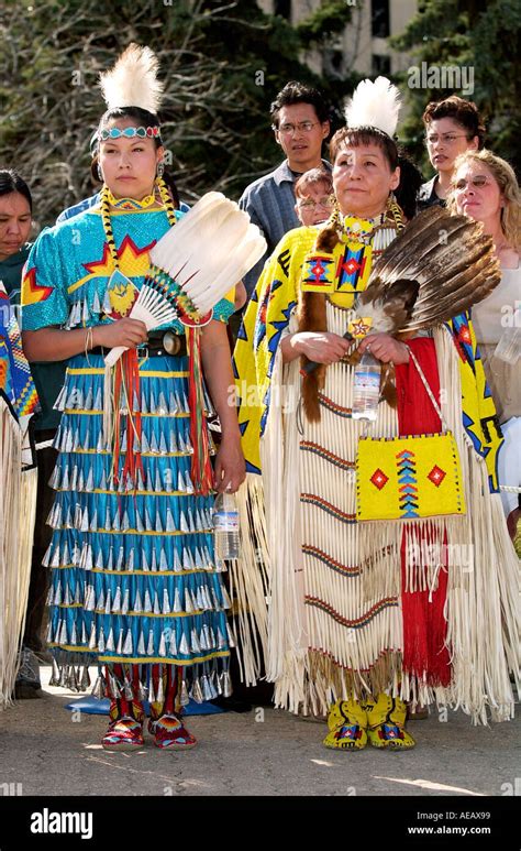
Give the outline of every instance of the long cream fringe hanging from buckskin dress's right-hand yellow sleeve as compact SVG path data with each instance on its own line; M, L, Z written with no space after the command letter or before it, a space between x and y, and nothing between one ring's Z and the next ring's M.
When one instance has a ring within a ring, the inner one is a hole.
M447 646L453 681L435 689L439 703L461 708L473 723L513 718L509 669L519 692L519 560L508 534L500 498L491 494L485 461L462 423L458 356L448 331L434 332L443 414L459 450L467 514L451 531L450 553L466 547L472 559L448 565Z

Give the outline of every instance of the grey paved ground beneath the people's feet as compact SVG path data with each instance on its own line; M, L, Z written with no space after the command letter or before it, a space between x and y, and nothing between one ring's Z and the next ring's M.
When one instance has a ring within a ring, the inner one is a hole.
M409 723L412 751L343 753L322 746L323 723L258 708L191 717L199 745L188 753L160 752L148 734L137 753L108 753L100 745L107 718L66 710L78 695L45 685L51 667L41 673L43 698L0 713L3 795L521 794L519 717L487 729L463 712L434 713Z

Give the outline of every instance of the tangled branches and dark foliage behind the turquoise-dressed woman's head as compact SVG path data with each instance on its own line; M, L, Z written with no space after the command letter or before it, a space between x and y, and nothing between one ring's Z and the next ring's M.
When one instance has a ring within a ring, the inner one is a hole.
M288 79L321 85L300 40L248 0L4 0L0 163L54 220L92 193L89 139L103 112L98 75L131 42L159 56L163 137L181 197L237 197L279 159L269 103Z

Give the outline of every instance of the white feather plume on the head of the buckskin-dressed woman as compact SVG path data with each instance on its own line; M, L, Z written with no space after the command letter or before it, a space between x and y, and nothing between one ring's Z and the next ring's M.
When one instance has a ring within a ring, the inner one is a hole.
M400 92L387 77L377 77L374 83L364 79L347 102L345 120L351 130L376 127L392 139L400 107Z

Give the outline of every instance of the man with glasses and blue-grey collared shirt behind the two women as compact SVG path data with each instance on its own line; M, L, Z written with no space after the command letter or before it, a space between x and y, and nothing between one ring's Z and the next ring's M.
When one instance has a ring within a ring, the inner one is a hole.
M295 211L295 182L310 168L331 165L321 159L322 144L330 133L330 110L323 95L302 83L287 83L271 103L271 129L286 160L275 171L251 183L239 201L267 241L264 258L245 276L252 295L264 262L276 244L300 222Z

